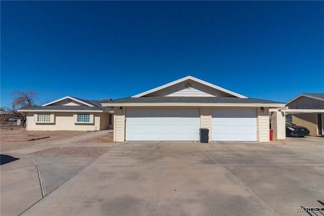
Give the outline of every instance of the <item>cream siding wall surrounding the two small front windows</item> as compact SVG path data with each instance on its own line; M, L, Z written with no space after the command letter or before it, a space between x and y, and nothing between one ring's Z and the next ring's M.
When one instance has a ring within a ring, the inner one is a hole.
M45 112L51 113L51 112ZM93 115L93 123L74 123L74 115L77 113L69 112L55 112L55 122L54 123L36 123L34 114L36 112L27 113L27 126L26 130L102 130L100 127L100 118L102 113L90 113ZM53 114L53 113L52 113ZM108 118L108 117L107 117ZM104 128L106 129L106 128Z

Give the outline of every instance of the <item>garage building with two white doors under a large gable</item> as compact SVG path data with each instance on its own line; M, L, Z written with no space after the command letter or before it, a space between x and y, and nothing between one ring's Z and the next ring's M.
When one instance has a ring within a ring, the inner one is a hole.
M210 141L267 142L269 107L285 103L248 98L187 76L102 105L114 107L114 141L198 141L199 128L207 128Z

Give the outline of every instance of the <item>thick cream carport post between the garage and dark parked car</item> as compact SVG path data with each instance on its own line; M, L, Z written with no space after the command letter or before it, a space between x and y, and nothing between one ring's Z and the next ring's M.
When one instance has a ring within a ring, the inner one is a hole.
M273 139L286 139L286 115L285 112L271 113L271 129Z

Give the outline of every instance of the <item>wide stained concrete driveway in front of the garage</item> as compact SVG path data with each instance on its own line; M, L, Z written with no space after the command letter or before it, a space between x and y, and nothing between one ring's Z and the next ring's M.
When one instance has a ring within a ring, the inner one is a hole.
M19 155L26 160L24 173L34 174L24 182L35 201L21 212L4 212L8 208L2 201L2 213L323 215L323 144L320 137L270 143L102 143L102 147L117 146L98 157L42 156L26 150L39 169L27 166L30 160ZM82 146L85 143L73 145ZM98 143L86 146L98 147ZM7 174L3 169L15 170L19 161L2 165L2 200L3 190L7 196L10 193L10 183L3 187L3 175ZM297 213L296 208L304 212Z

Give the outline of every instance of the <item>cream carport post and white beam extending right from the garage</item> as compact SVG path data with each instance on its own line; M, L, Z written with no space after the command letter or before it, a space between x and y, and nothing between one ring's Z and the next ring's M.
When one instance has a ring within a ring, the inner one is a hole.
M310 109L288 109L286 107L278 107L269 109L271 113L271 129L273 129L273 139L286 139L286 115L301 113L318 113L323 114L324 110Z

